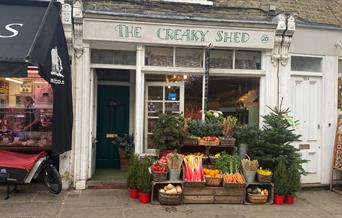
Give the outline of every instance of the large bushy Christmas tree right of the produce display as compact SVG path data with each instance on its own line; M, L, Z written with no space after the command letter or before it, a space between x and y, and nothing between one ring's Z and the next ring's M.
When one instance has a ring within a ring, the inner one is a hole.
M293 142L299 141L300 135L295 134L293 126L296 122L289 121L289 109L275 107L271 112L263 116L264 126L260 134L260 141L248 150L251 158L259 160L263 168L274 170L279 157L284 157L285 165L298 162L299 171L305 174L301 164L306 162L301 159L299 149Z

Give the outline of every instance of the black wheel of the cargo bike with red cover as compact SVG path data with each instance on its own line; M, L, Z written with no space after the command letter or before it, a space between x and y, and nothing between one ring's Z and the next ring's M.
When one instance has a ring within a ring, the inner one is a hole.
M50 193L57 195L62 191L62 179L54 166L48 165L45 167L43 178Z

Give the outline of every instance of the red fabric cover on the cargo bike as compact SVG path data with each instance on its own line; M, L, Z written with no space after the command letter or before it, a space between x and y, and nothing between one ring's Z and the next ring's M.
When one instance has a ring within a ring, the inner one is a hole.
M17 168L30 171L34 164L42 157L46 156L46 152L39 154L22 154L0 150L0 167Z

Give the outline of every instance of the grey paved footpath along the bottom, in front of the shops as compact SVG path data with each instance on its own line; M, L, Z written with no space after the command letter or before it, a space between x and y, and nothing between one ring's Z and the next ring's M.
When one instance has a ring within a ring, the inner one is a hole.
M0 187L0 218L342 218L342 195L321 190L303 191L294 205L140 204L127 190L87 189L54 196L44 186L20 186L8 200Z

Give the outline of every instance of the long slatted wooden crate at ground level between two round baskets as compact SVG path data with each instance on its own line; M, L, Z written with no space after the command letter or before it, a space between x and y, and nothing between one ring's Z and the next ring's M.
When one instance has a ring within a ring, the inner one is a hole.
M187 187L183 188L183 203L243 204L245 187Z

